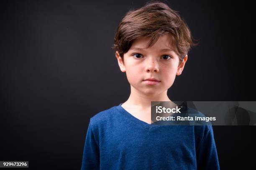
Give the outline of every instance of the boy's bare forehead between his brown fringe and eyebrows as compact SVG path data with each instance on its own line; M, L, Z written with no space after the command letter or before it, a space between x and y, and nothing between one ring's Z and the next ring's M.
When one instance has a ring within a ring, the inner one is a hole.
M146 48L150 40L151 40L151 37L140 37L133 41L133 44L131 45L130 49L132 50L136 48ZM154 43L154 45L152 45L149 48L156 49L156 50L167 48L167 49L173 50L171 36L169 34L160 36L156 41L156 43Z

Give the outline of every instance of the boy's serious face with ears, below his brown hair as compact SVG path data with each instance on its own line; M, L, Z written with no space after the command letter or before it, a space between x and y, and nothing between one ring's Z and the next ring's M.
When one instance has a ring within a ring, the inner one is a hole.
M153 46L145 48L149 40L144 37L135 40L124 54L124 62L118 52L116 57L121 71L126 72L128 82L134 89L145 95L159 95L172 86L176 75L182 73L187 55L179 63L179 56L172 50L168 34L160 36Z

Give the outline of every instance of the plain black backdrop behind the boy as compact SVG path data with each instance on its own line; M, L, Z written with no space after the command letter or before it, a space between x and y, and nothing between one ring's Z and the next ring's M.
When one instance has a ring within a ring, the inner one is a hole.
M130 86L111 49L125 13L146 1L1 1L0 160L79 169L90 117ZM171 100L255 100L253 4L165 1L199 45ZM214 126L221 169L255 168L255 126Z

